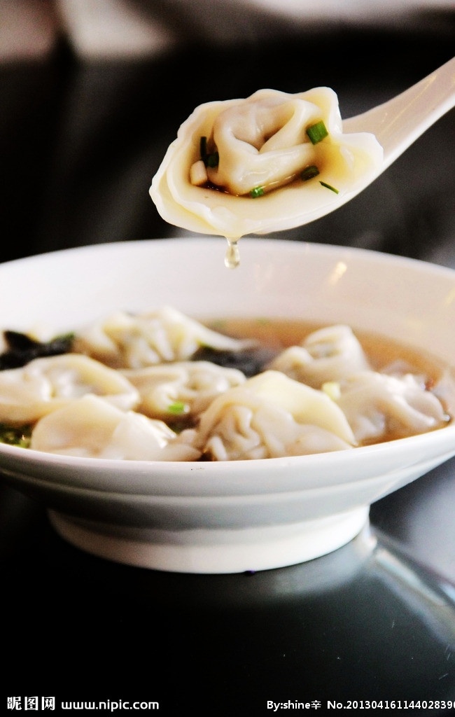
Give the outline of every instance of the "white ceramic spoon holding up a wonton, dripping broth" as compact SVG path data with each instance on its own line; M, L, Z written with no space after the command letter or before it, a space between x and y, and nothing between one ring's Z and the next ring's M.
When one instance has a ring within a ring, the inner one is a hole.
M175 181L174 175L176 174L178 179L179 174L178 171L176 173L173 161L176 156L180 161L184 138L181 139L178 151L176 143L169 148L172 151L168 151L160 169L155 174L150 194L161 216L167 222L193 232L213 232L219 236L231 237L228 238L229 246L226 251L225 263L226 266L233 268L239 263L238 237L249 233L271 234L282 229L293 229L314 222L315 219L320 219L325 214L338 209L377 179L418 137L454 106L455 57L392 100L365 113L343 120L343 133L370 133L375 136L383 148L383 161L378 163L374 171L365 172L365 177L358 179L350 191L333 194L332 192L322 193L317 188L316 192L312 191L312 194L307 195L308 201L303 206L300 199L297 203L294 201L294 194L291 195L287 203L284 202L282 205L272 200L270 204L267 204L268 209L264 210L264 214L258 212L247 214L243 203L237 216L236 212L232 211L231 204L223 206L221 202L221 207L219 207L212 201L206 205L203 200L193 199L193 194L191 194L191 199L185 196L186 201L179 204L178 200L174 201L173 192L169 189L168 176L171 176L173 188L178 187L178 181ZM191 133L195 131L197 121L200 120L199 116L196 119L195 117L196 114L187 120L191 121ZM329 189L332 188L329 186ZM263 205L260 204L262 201L264 200L258 200L258 209L263 208ZM216 222L213 220L212 214L216 217ZM231 215L234 217L232 223L230 223ZM226 229L226 234L224 234L224 229Z

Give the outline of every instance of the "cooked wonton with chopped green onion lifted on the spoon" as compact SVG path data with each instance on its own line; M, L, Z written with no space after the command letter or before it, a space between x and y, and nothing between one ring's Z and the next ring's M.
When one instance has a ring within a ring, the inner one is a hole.
M329 135L313 145L308 126L323 120ZM209 179L231 193L191 184L191 167L201 159L201 136L219 152ZM259 90L245 100L200 105L181 125L150 186L161 217L177 227L202 234L239 239L298 227L312 206L331 211L338 196L372 180L383 161L383 149L370 133L343 135L337 95L317 87L292 95ZM320 174L297 179L252 199L258 186L284 184L310 165ZM238 196L246 195L246 196Z

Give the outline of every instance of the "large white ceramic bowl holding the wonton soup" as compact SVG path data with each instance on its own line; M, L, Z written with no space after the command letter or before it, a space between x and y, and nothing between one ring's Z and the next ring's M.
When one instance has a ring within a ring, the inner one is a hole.
M0 265L0 326L68 331L112 310L173 305L214 316L300 318L377 331L455 363L455 271L346 247L251 239L101 244ZM112 461L0 445L0 470L98 556L229 573L313 559L347 543L369 506L455 455L455 424L327 454L236 462Z

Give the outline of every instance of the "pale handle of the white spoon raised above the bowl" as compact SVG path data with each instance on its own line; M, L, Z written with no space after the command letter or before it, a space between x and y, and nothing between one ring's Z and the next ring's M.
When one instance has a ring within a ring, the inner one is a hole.
M343 132L372 132L383 169L455 106L455 57L388 102L343 122Z

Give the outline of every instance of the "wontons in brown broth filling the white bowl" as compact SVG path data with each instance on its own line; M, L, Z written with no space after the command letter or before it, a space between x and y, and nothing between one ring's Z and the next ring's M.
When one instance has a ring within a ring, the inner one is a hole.
M455 405L448 367L344 325L203 325L163 307L115 312L71 341L4 337L1 440L62 455L224 461L353 450L441 429Z

